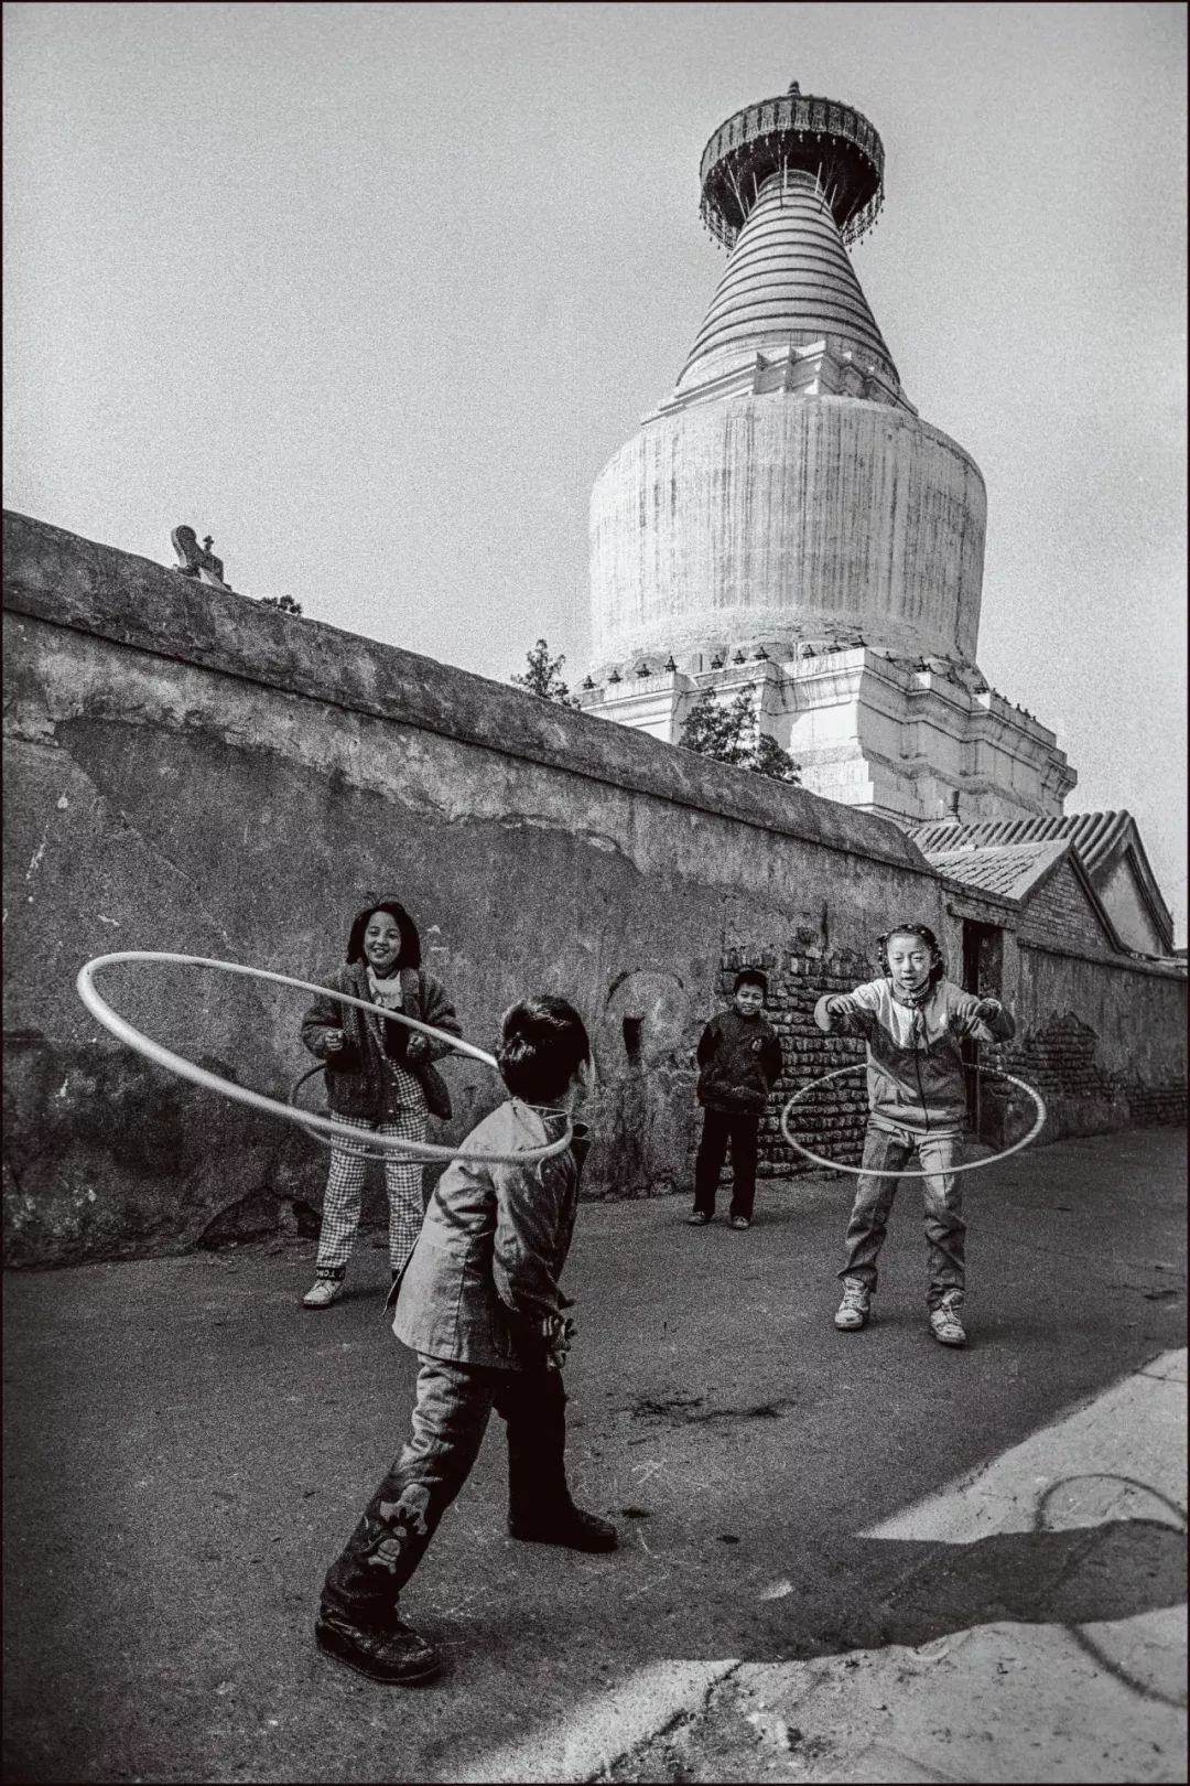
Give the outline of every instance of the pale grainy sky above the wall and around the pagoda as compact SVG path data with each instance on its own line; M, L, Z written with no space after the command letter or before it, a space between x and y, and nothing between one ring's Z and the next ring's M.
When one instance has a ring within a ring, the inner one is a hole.
M855 264L988 488L979 666L1185 941L1181 5L7 5L5 505L505 679L723 268L698 163L881 132Z

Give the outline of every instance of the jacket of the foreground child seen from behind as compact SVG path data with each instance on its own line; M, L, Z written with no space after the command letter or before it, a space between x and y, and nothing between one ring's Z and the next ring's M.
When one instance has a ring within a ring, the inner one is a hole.
M510 1098L460 1145L400 1281L393 1332L403 1345L462 1365L541 1366L542 1322L571 1306L558 1277L578 1206L574 1150L528 1166L467 1156L544 1147L562 1125Z

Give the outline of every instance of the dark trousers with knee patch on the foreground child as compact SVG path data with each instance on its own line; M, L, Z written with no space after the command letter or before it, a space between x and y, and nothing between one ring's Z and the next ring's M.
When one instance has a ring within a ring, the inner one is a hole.
M419 1354L412 1434L323 1584L323 1609L384 1625L467 1481L492 1407L508 1431L508 1516L550 1520L566 1486L566 1390L557 1370L494 1370Z

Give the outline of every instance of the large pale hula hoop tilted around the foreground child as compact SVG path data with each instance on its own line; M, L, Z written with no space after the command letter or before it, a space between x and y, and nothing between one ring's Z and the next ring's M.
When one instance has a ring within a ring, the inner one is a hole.
M161 950L146 948L125 948L112 956L96 956L87 961L86 966L79 970L75 979L75 989L82 998L84 1006L103 1029L111 1031L118 1041L123 1041L128 1048L143 1054L145 1059L152 1061L155 1066L164 1066L166 1072L177 1073L178 1079L187 1079L193 1086L202 1086L205 1091L218 1091L225 1098L232 1098L234 1104L248 1104L252 1109L266 1111L269 1116L280 1116L284 1122L298 1123L298 1127L307 1131L321 1131L337 1141L350 1141L355 1148L360 1147L364 1131L350 1129L346 1123L335 1122L334 1116L319 1116L318 1111L298 1111L293 1104L282 1104L280 1098L269 1098L264 1091L252 1091L248 1086L237 1086L230 1079L223 1079L219 1073L207 1072L205 1066L196 1066L187 1061L182 1054L175 1054L171 1048L162 1047L153 1041L152 1036L145 1036L139 1029L134 1029L127 1018L120 1016L118 1011L107 1004L105 998L95 988L95 975L102 968L114 968L121 961L173 961L186 968L216 968L221 973L243 973L252 981L273 981L277 986L296 986L298 991L307 993L325 993L337 1004L359 1006L360 1011L375 1011L376 1016L396 1018L398 1023L405 1023L409 1029L419 1031L423 1036L434 1036L437 1041L446 1041L457 1054L467 1054L473 1061L483 1061L485 1066L496 1066L496 1057L485 1048L476 1048L473 1041L462 1041L460 1036L451 1036L444 1029L435 1029L432 1023L421 1023L417 1018L405 1016L401 1011L385 1011L384 1006L373 1006L366 998L357 998L353 993L339 993L330 986L318 986L314 981L296 981L289 973L271 973L268 968L244 968L237 961L212 961L207 956L173 956ZM557 1141L550 1141L548 1147L526 1148L523 1154L473 1154L467 1150L467 1159L473 1159L478 1166L503 1166L508 1163L519 1163L532 1166L542 1159L553 1159L557 1154L564 1154L566 1148L574 1139L574 1131L567 1118L566 1129ZM394 1154L407 1159L457 1159L460 1154L459 1147L439 1147L434 1141L407 1141L401 1136L393 1136L391 1139L382 1134L373 1134L373 1141L384 1150L384 1154Z

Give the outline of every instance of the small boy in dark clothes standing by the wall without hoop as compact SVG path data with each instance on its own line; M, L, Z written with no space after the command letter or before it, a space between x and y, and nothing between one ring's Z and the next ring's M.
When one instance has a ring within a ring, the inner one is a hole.
M764 1016L769 982L760 968L735 975L730 1011L712 1016L698 1043L698 1102L703 1139L694 1163L690 1227L715 1213L719 1173L731 1145L731 1227L751 1227L756 1197L756 1134L769 1091L781 1072L781 1043Z

